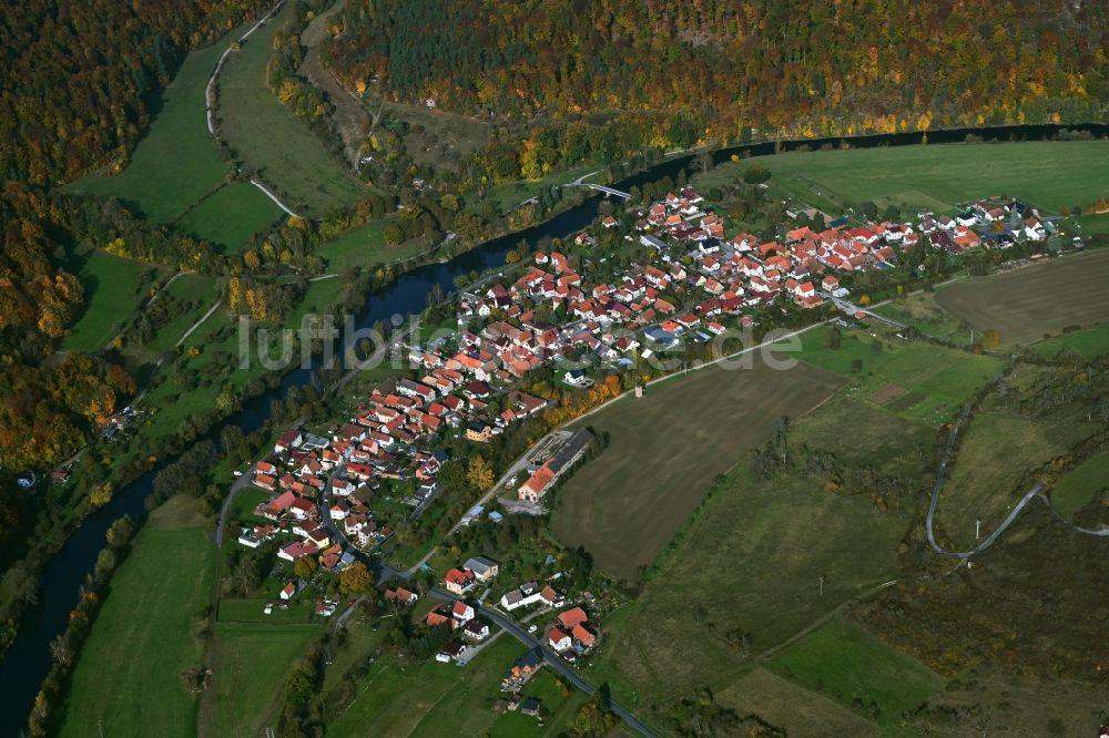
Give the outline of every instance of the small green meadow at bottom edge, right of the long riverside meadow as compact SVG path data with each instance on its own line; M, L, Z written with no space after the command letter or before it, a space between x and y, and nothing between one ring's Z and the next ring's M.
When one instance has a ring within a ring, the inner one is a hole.
M317 625L216 624L201 735L260 736L276 725L267 718L279 706L285 677L318 633Z

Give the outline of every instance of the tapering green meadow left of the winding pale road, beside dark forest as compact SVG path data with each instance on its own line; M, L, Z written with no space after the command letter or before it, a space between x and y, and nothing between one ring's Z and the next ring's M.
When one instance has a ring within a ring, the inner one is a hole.
M152 221L170 223L223 182L231 164L221 158L208 136L204 88L232 35L185 58L121 174L85 177L71 188L118 197Z

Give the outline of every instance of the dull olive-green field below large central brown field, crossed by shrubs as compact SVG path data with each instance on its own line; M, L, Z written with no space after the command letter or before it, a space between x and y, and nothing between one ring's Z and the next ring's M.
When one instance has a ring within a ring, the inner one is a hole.
M912 484L933 440L933 429L841 393L794 420L788 448ZM894 504L902 512L849 482L830 492L818 475L757 478L741 463L709 492L637 599L606 623L593 676L640 706L704 686L726 690L759 654L897 576L912 521L909 501Z

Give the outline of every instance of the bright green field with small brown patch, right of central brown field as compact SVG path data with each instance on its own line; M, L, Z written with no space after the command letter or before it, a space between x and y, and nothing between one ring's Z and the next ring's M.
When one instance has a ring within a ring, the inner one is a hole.
M906 341L881 325L869 328L875 336L843 330L837 349L825 345L825 329L806 331L794 356L849 377L851 397L929 426L950 420L1004 363L990 356Z

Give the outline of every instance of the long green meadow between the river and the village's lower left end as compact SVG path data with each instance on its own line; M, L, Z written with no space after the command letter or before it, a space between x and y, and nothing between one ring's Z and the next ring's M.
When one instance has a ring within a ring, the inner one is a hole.
M213 555L194 500L155 511L82 646L59 735L196 735L196 697L179 675L203 662L193 617L212 594Z

